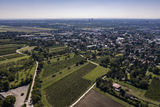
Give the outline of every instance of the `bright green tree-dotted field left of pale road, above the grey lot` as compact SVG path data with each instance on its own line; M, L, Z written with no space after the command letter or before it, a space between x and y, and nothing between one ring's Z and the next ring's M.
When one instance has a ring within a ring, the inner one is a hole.
M0 90L8 90L28 84L35 70L34 60L24 55L5 56L10 59L0 61ZM6 84L8 84L6 86Z

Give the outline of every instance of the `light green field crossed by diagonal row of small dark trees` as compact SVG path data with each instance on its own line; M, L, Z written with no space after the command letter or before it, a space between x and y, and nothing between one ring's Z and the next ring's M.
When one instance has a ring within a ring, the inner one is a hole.
M49 61L45 62L44 68L40 74L40 78L43 81L41 89L42 100L45 106L49 105L45 96L45 88L85 66L86 64L79 64L82 61L84 61L84 59L81 56L70 53L54 56ZM76 63L78 65L76 65Z

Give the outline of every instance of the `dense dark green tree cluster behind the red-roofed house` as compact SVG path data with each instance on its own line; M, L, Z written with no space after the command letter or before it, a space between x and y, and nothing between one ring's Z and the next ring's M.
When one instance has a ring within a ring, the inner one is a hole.
M141 89L147 89L149 86L149 79L152 78L151 75L146 75L148 70L146 63L141 63L138 60L134 60L130 63L124 55L107 55L101 60L100 65L110 68L107 77L118 79L120 81L128 81L132 83L132 85Z

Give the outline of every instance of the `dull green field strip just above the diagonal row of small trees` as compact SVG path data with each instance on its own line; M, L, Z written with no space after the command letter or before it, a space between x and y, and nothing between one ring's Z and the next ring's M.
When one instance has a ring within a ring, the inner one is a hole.
M74 56L73 58L68 58L68 59L64 59L64 60L59 59L56 62L54 62L55 60L51 61L53 63L45 64L42 77L50 76L56 72L59 72L60 70L66 68L66 67L69 67L73 64L76 64L77 62L80 62L81 60L83 60L83 58L81 56Z

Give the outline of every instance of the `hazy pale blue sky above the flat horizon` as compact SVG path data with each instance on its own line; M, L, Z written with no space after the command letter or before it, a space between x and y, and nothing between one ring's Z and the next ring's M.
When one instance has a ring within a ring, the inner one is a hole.
M160 18L160 0L0 0L0 18Z

